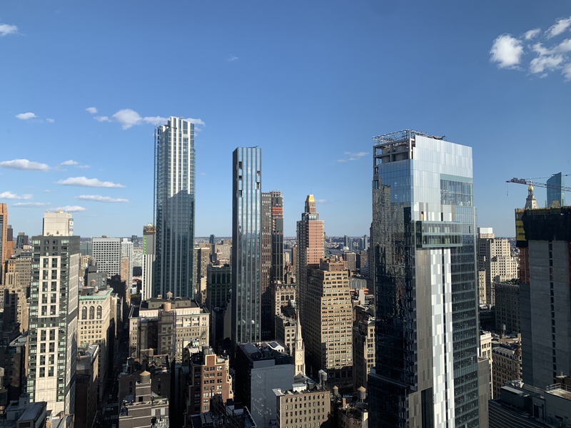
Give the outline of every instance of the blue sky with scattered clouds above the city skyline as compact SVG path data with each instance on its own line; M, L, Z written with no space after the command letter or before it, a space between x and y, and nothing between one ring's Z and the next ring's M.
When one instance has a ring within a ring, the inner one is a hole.
M571 173L570 17L569 1L8 2L0 202L15 233L74 207L79 235L141 235L152 118L184 116L197 236L231 235L231 154L256 145L286 235L308 193L328 235L363 235L371 137L410 128L473 147L478 223L513 236L527 188L505 180Z

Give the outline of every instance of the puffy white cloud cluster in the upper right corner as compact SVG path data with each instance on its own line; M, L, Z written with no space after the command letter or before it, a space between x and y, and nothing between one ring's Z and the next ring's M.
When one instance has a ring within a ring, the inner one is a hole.
M492 43L490 62L497 63L497 68L527 70L540 78L547 77L551 71L561 71L565 80L571 80L571 39L551 40L570 27L571 16L557 19L543 36L539 28L526 31L520 37L502 34ZM533 39L537 40L535 44L527 45ZM550 46L544 45L546 41Z

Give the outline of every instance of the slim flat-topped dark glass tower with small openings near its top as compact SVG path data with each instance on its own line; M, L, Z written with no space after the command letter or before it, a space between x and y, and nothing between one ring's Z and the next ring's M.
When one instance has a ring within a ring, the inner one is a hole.
M238 147L232 171L232 345L261 340L262 149Z

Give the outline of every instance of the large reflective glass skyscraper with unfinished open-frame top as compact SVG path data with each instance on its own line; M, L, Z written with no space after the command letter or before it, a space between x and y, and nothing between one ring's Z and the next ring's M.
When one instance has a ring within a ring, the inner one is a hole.
M479 426L472 188L472 148L410 130L375 138L375 428Z

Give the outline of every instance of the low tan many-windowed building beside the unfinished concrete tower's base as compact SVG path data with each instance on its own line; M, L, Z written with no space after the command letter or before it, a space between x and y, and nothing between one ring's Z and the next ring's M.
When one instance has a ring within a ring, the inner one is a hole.
M518 344L492 347L492 394L500 397L506 382L522 379L522 349Z

